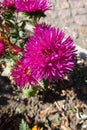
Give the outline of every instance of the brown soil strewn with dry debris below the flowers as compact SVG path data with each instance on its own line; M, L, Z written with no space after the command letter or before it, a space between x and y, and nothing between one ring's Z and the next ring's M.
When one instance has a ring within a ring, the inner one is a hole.
M34 130L87 130L87 61L77 57L69 77L30 98L0 76L0 130L19 130L22 119Z

